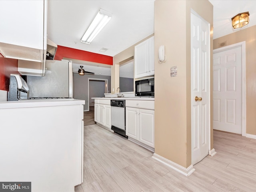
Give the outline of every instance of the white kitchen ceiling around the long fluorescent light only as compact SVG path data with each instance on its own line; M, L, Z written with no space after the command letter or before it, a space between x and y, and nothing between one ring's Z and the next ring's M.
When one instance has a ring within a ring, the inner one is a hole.
M100 8L112 13L112 19L90 45L81 43ZM154 0L48 1L48 38L61 46L115 56L153 33Z

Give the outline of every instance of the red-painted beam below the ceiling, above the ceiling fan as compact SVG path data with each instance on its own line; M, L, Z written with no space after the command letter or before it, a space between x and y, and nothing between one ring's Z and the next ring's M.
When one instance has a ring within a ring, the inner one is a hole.
M54 60L63 58L113 65L113 57L58 45Z

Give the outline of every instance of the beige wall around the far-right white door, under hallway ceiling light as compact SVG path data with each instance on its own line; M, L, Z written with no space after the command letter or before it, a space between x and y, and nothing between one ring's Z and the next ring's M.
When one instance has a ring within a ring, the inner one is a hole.
M246 41L246 133L256 135L256 25L213 40L213 48Z

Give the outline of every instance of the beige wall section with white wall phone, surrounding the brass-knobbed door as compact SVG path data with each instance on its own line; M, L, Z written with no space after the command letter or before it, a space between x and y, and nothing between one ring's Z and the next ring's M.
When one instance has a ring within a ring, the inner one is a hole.
M155 153L186 168L191 164L191 8L210 23L212 30L213 6L208 0L156 0L154 8ZM212 55L212 34L210 44ZM166 62L162 64L157 60L160 45L166 48ZM170 77L172 66L178 67L176 77Z

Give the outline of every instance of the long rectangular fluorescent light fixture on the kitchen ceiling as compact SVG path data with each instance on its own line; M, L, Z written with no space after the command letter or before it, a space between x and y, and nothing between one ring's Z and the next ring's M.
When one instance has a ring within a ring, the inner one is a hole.
M109 22L112 18L112 14L103 9L100 9L86 32L81 38L82 43L89 44L97 36L97 34L102 30L102 28Z

